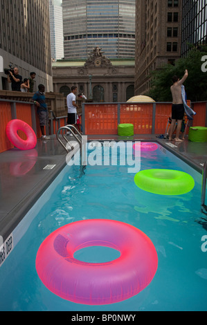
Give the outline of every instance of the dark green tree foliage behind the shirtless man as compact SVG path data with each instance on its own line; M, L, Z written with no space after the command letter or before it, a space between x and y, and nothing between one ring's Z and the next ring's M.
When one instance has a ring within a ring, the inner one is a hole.
M207 100L207 72L201 71L201 57L207 55L207 46L200 46L199 49L192 48L187 57L178 59L174 66L165 64L156 71L152 71L152 88L148 96L156 102L172 102L170 86L172 76L177 75L180 79L185 70L188 70L188 79L184 83L188 100L198 102Z

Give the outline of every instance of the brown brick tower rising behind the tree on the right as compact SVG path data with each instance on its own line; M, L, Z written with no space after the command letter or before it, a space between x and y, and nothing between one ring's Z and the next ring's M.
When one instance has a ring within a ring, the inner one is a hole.
M150 72L181 56L181 0L136 1L135 95L150 89Z

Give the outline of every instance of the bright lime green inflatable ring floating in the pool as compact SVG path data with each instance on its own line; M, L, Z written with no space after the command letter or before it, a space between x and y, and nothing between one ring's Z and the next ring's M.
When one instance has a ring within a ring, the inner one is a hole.
M134 183L146 192L180 195L190 192L195 181L187 173L171 169L146 169L134 176Z

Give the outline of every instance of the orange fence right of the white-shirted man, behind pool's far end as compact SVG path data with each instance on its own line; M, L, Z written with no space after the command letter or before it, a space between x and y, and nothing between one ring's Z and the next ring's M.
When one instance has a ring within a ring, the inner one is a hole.
M193 125L206 125L206 102L190 103L196 115ZM86 135L117 134L118 124L134 124L134 134L161 134L171 116L172 103L84 104ZM187 120L187 118L186 118Z

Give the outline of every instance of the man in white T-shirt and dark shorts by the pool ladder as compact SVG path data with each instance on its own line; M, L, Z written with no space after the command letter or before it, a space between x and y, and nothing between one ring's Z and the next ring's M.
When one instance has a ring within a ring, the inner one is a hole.
M78 105L76 104L76 93L78 89L77 86L72 86L71 88L71 93L67 95L66 101L67 101L67 106L68 106L68 119L67 119L67 124L72 124L74 127L76 122L77 122L77 109ZM71 132L67 132L66 134L73 136Z

